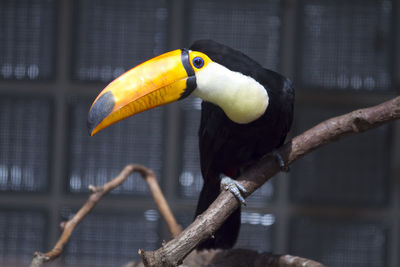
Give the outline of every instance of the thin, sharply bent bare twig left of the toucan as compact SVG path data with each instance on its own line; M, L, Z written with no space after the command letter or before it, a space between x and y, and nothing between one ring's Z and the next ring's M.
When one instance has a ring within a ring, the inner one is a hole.
M71 237L75 227L85 218L85 216L96 206L100 199L108 194L111 190L121 185L133 172L139 172L147 182L151 193L153 194L154 200L160 213L168 223L168 227L172 235L176 235L180 232L180 226L176 223L175 218L172 215L171 209L169 208L165 198L160 190L156 176L154 172L142 165L130 164L127 165L118 176L111 181L105 183L103 186L96 187L89 185L91 195L86 203L79 209L79 211L67 222L61 224L63 232L58 239L54 248L47 253L35 252L30 267L40 267L45 262L53 261L58 258L63 251L65 244Z

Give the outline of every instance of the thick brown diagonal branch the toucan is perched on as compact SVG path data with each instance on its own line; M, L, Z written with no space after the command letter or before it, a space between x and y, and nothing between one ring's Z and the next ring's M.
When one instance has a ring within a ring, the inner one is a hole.
M326 120L293 138L278 152L289 165L314 149L344 136L364 132L399 118L400 97L396 97L374 107ZM267 154L238 180L251 194L279 171L280 167L275 157ZM143 263L145 266L179 265L197 244L210 238L239 205L231 193L222 191L211 206L175 239L156 251L142 252Z

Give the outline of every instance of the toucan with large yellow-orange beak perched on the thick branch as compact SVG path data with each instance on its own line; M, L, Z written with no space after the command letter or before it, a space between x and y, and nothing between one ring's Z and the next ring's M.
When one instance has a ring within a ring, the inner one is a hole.
M293 120L294 89L288 78L263 68L242 52L199 40L189 49L159 55L112 81L89 110L89 134L189 95L203 100L198 135L204 184L197 216L221 188L244 202L245 189L235 179L284 143ZM239 228L240 207L197 249L229 249Z

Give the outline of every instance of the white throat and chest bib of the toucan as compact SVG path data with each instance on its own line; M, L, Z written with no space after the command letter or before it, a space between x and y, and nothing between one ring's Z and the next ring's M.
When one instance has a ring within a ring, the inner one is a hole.
M236 123L250 123L264 114L268 93L256 80L210 62L196 73L194 94L218 105Z

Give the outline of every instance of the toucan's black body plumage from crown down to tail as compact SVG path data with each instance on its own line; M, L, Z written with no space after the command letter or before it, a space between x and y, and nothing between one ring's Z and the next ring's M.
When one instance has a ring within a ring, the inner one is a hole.
M228 69L250 76L268 92L266 112L248 124L231 121L224 111L203 101L199 128L201 172L204 179L196 216L204 212L220 192L220 177L237 178L240 171L283 144L293 118L294 90L289 79L263 68L245 54L211 40L191 47ZM198 249L231 248L240 228L240 208Z

